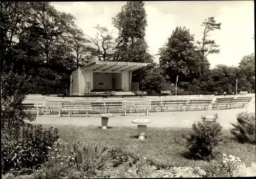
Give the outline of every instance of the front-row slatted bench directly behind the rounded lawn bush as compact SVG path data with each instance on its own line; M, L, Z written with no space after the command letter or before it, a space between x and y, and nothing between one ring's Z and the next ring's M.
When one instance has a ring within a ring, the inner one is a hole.
M190 109L207 109L209 110L211 108L211 103L213 99L189 99L188 103L185 104L187 106L186 110Z

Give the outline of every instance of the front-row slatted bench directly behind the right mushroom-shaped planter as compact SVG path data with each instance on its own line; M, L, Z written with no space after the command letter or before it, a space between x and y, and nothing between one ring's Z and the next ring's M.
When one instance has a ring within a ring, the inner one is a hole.
M148 116L148 109L150 109L151 101L150 100L140 100L140 101L124 101L124 116L126 116L126 111L129 113L134 109L135 113L138 113L139 109L146 111L146 116Z

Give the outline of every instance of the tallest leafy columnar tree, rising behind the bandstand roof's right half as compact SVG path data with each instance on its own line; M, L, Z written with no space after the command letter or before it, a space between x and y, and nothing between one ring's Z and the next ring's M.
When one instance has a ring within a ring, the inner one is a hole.
M148 53L145 42L147 26L146 11L142 1L129 1L112 18L113 25L119 31L114 61L152 63L133 73L133 82L141 82L146 71L153 68L153 56ZM141 87L141 86L140 86Z

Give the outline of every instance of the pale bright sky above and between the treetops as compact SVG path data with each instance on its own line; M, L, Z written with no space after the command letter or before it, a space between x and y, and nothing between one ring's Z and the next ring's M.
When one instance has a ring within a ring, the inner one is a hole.
M126 2L52 2L59 11L71 13L76 25L89 36L96 35L99 24L109 31L118 30L112 25L112 17L120 12ZM146 1L147 27L145 40L148 52L155 55L163 47L177 26L186 27L195 34L195 41L202 38L202 21L215 17L222 23L221 30L211 32L210 39L220 46L220 54L209 55L211 68L217 64L238 66L243 56L254 53L254 1Z

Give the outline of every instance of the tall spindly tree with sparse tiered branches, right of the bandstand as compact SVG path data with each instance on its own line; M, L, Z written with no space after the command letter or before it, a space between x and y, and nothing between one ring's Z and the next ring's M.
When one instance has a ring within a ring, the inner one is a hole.
M208 17L201 25L203 30L202 41L197 41L197 54L200 59L201 75L204 73L204 69L209 69L210 63L207 59L209 54L219 54L219 46L215 43L215 40L210 40L210 32L221 29L221 23L216 23L215 17Z

